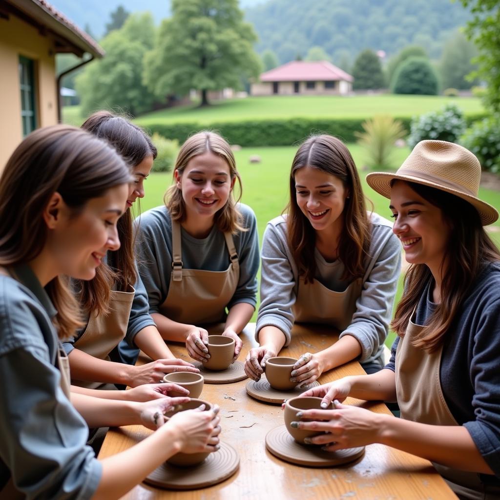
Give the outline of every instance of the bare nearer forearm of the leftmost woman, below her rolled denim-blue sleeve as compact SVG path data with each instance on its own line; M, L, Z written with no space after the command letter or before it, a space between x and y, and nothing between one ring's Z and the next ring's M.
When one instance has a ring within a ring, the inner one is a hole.
M170 429L161 427L127 450L102 459L102 477L93 498L109 500L123 496L179 451L176 438ZM140 460L137 460L138 456Z

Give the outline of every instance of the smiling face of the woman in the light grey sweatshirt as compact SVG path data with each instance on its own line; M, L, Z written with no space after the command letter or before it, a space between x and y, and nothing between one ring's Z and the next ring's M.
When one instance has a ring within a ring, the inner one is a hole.
M338 177L304 166L295 172L295 190L298 207L316 231L341 222L348 192Z

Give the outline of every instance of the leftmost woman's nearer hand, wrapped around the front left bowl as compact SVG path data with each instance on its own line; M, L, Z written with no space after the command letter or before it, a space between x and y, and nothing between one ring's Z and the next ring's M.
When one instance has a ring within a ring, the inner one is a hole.
M219 407L214 405L210 411L204 405L197 409L179 411L170 417L167 425L173 426L174 435L183 453L216 451L219 448L220 418Z

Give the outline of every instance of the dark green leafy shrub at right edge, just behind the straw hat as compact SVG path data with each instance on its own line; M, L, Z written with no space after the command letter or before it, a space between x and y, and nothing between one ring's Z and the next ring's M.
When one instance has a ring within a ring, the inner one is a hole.
M483 170L500 173L500 114L476 121L460 137L460 144L477 156Z

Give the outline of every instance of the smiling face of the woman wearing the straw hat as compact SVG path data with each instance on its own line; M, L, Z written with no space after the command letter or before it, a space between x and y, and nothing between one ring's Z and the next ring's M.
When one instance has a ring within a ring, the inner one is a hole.
M390 190L390 209L395 219L392 231L403 245L406 261L426 264L433 274L437 272L451 232L441 209L401 180Z

